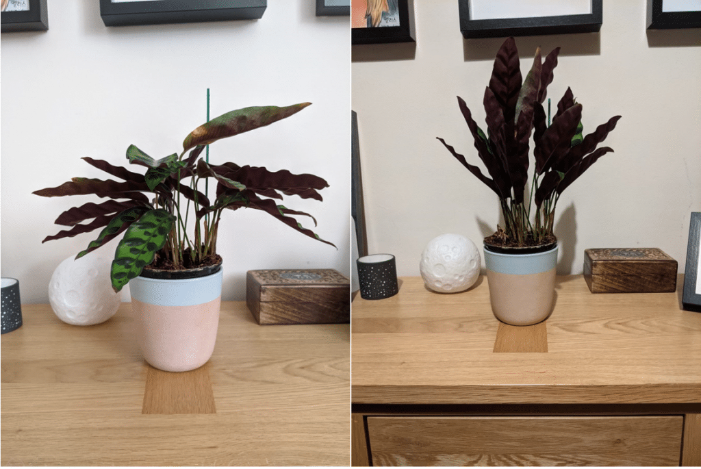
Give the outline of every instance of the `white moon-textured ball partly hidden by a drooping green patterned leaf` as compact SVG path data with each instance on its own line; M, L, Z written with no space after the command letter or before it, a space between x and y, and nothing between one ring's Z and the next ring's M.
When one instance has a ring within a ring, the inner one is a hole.
M117 312L121 294L109 280L111 259L91 252L59 264L48 285L48 300L63 322L76 326L100 324Z

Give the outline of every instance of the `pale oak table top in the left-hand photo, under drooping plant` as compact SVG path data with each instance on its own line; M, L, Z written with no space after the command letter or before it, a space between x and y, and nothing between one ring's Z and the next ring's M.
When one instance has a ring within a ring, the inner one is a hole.
M2 465L348 465L348 324L259 326L225 301L210 361L168 373L130 314L78 327L22 305L2 336Z

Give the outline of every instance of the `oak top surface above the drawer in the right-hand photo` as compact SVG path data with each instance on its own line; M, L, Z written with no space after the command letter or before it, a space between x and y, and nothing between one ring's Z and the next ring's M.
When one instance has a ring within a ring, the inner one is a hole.
M454 294L400 278L395 297L353 300L353 403L701 402L701 313L681 309L677 285L592 294L558 277L550 318L515 327L491 312L486 276Z

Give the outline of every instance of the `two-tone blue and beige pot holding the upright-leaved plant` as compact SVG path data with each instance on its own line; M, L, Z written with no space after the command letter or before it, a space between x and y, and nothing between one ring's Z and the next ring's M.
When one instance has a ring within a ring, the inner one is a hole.
M552 313L557 244L529 254L492 252L485 246L484 263L491 309L498 320L528 326Z

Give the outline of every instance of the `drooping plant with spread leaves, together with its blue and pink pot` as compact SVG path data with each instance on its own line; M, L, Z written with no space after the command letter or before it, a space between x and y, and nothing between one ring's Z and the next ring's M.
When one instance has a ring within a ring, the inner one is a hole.
M45 197L93 194L107 199L63 212L55 223L72 228L48 236L43 243L102 228L77 259L123 233L111 263L111 284L119 291L130 283L137 339L149 364L186 371L200 367L212 355L222 294L217 240L224 210L261 210L333 245L293 217L311 215L275 201L283 194L322 200L318 191L328 186L324 179L235 163L210 165L201 156L208 144L287 118L309 104L228 112L193 130L179 154L158 160L130 145L126 157L132 165L146 168L143 174L86 157L83 160L90 165L121 181L74 177L34 192ZM216 182L211 200L200 191L207 180Z

